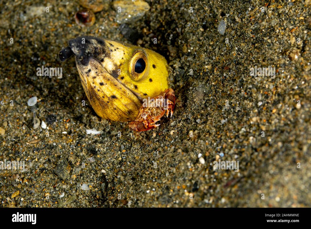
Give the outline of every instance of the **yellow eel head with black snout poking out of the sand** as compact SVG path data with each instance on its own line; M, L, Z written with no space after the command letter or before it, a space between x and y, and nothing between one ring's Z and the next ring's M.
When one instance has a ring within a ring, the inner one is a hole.
M160 54L123 42L80 36L59 52L75 55L83 89L96 114L112 121L135 120L142 99L169 88L169 68Z

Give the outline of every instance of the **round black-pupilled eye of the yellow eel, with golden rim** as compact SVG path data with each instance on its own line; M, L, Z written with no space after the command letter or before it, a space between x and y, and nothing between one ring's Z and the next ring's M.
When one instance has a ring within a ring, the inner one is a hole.
M133 80L141 80L148 75L148 62L144 50L137 50L130 60L129 72Z

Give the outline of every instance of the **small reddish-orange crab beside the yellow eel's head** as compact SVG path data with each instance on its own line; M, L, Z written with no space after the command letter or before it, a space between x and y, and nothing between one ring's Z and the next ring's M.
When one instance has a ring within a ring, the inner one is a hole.
M172 117L175 107L176 97L172 88L166 89L160 95L145 99L139 109L136 120L130 122L128 127L137 132L151 130L160 126L156 122L160 121L166 113L166 117Z

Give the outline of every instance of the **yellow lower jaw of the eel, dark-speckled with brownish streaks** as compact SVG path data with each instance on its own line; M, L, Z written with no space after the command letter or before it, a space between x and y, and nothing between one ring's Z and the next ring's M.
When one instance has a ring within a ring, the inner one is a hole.
M98 116L123 122L136 118L142 102L131 90L94 58L86 66L76 63L83 89Z

